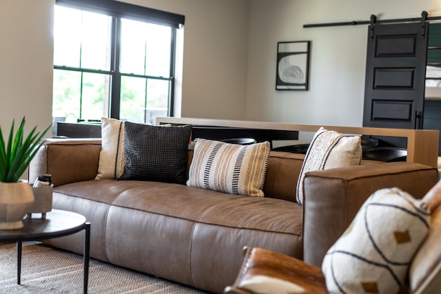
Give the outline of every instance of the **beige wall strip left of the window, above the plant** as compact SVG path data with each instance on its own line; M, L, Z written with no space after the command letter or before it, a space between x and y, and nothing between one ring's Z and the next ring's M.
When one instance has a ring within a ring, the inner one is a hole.
M52 122L52 10L54 0L1 0L0 125L15 118L26 129ZM6 133L6 134L5 134ZM52 135L52 134L48 134Z

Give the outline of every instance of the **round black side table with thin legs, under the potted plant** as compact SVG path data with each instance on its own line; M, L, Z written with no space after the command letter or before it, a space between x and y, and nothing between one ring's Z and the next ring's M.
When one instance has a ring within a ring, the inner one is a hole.
M25 218L23 228L0 230L0 243L17 242L17 284L21 277L21 244L24 241L45 240L71 235L85 230L84 238L84 275L83 291L88 293L89 280L89 251L90 251L90 222L79 213L52 209L46 213L46 218Z

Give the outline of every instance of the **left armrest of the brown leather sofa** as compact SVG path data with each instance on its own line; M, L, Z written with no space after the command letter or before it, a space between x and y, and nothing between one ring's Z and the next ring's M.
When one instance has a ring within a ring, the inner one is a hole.
M51 174L54 187L93 180L98 172L100 139L48 139L29 165L29 180Z

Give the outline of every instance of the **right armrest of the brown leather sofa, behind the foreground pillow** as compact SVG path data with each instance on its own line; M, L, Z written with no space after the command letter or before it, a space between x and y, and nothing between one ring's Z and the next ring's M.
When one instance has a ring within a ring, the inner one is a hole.
M382 188L398 187L422 198L438 182L438 169L391 162L313 171L305 176L303 259L321 266L327 250L349 226L361 205Z

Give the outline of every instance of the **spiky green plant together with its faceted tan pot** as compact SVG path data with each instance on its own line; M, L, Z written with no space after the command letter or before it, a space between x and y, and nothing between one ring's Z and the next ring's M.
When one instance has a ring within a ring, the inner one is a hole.
M9 136L3 138L0 127L0 229L19 229L23 227L22 219L34 202L34 194L28 182L20 177L34 158L41 139L50 129L37 132L34 127L28 136L24 135L25 118L21 120L14 134L14 120Z

